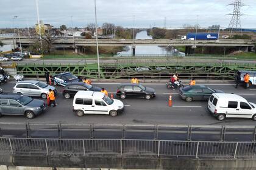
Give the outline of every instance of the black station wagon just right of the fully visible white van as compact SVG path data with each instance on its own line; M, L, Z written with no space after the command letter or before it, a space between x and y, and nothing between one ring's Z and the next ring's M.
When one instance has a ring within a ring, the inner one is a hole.
M146 100L149 100L152 97L155 97L155 90L149 87L144 87L141 84L121 83L116 95L122 99L126 97L144 97Z

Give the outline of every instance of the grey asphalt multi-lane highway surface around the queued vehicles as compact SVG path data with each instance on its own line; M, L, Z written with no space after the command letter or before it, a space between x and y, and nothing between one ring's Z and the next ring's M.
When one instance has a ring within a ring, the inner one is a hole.
M235 89L233 82L208 84L213 89L220 89L227 93L239 94L248 101L256 103L256 88L250 87L244 89L238 87ZM116 92L119 83L94 83L95 86L105 87L108 94ZM157 97L152 100L144 98L127 98L123 100L125 111L117 117L108 115L85 115L77 117L72 109L73 99L65 99L62 96L61 86L57 86L57 107L48 107L45 112L32 120L26 117L4 116L0 122L30 122L30 123L96 123L96 124L223 124L223 125L255 125L255 121L243 118L227 118L224 121L218 121L209 114L207 110L207 101L193 101L187 103L179 97L178 90L166 89L164 83L143 84L146 87L152 87L156 90ZM5 92L11 92L15 82L2 84L1 87ZM172 107L168 107L169 94L172 94ZM115 98L117 98L115 96Z

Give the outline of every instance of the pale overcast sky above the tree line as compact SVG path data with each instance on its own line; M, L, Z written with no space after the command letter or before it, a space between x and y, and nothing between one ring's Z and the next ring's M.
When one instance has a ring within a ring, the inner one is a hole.
M166 27L178 28L183 24L201 27L220 24L228 27L233 7L227 4L234 0L96 0L98 25L111 22L123 27ZM256 28L256 1L243 0L242 27ZM62 24L71 27L85 27L94 22L94 0L38 0L40 20L45 24L59 27ZM35 0L0 0L0 28L34 27L37 22ZM18 18L13 19L13 16ZM14 21L14 22L13 22Z

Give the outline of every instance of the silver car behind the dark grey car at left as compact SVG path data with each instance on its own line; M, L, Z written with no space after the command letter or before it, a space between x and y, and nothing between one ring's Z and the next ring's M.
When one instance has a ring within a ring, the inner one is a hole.
M57 95L55 87L49 86L43 81L25 80L16 83L13 87L13 93L46 99L49 89L52 89L54 94Z

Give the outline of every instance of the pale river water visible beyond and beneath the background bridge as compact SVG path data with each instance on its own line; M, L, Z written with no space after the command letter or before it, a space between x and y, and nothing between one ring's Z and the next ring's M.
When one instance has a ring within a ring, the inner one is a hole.
M148 36L146 31L138 32L136 39L152 39L152 36ZM172 47L164 46L136 46L136 55L182 55ZM122 52L118 52L118 56L132 55L131 46L126 46Z

